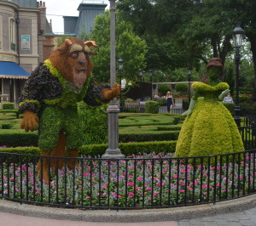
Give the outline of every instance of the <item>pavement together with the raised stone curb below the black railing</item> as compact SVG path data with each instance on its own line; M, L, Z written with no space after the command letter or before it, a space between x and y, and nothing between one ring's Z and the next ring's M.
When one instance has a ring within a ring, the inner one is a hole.
M190 226L255 225L256 195L215 205L90 211L0 200L0 226Z

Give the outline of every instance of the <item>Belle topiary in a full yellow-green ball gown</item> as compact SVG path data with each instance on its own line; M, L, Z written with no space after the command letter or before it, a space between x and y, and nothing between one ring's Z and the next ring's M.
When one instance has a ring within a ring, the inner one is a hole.
M207 65L204 82L195 82L187 116L177 139L175 157L220 155L243 151L240 133L230 111L218 100L230 93L229 85L220 82L221 59ZM200 98L203 97L203 98Z

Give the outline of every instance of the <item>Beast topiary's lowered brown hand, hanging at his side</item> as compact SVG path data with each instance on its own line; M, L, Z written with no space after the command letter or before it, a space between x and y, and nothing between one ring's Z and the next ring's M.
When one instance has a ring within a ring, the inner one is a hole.
M38 116L31 110L26 110L23 113L23 119L20 123L20 128L24 128L26 132L38 129Z

